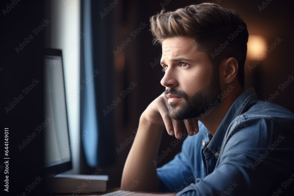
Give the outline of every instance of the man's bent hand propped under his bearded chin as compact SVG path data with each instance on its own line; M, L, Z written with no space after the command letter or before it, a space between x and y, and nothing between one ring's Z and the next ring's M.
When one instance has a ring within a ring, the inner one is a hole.
M177 139L180 139L182 138L181 122L168 116L168 108L168 101L163 92L148 105L141 117L143 116L147 121L155 125L165 125L169 135L175 135ZM183 121L189 135L198 133L199 127L196 118Z

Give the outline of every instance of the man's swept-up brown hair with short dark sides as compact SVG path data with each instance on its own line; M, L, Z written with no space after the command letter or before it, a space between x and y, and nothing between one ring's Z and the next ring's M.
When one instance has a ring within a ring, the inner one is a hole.
M162 45L166 38L187 36L198 51L209 56L214 73L219 74L221 61L235 57L239 65L238 81L244 88L248 30L235 10L213 3L190 5L176 11L163 9L150 18L150 24L154 45Z

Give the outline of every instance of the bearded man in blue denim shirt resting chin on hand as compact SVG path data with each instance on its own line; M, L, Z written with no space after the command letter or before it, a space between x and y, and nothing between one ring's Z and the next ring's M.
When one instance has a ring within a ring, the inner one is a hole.
M121 189L136 181L134 191L177 195L285 192L282 182L288 188L294 171L294 114L244 90L245 22L210 3L163 10L150 21L166 90L140 117ZM181 138L181 120L189 134L181 153L156 168L164 127Z

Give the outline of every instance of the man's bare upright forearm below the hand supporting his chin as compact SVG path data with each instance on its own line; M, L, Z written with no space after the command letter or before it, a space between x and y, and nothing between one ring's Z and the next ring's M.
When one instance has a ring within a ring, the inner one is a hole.
M134 191L159 191L159 180L153 160L156 159L162 132L163 126L154 125L141 116L136 137L123 168L121 190L128 190L135 180L137 185L133 186Z

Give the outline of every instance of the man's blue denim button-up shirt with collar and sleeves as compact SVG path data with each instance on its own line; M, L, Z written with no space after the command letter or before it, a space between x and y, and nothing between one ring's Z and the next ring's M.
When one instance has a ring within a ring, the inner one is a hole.
M257 99L253 88L234 101L214 136L198 124L199 133L157 168L162 192L265 195L274 185L287 188L283 179L294 180L294 114Z

